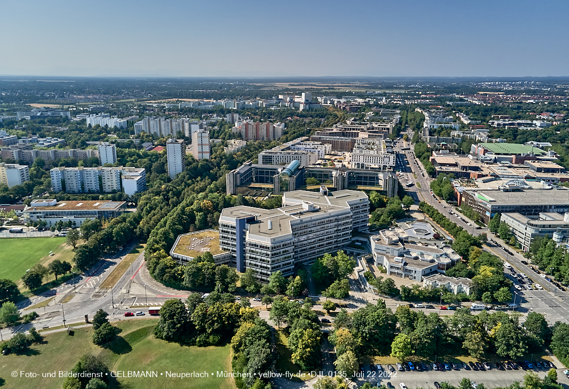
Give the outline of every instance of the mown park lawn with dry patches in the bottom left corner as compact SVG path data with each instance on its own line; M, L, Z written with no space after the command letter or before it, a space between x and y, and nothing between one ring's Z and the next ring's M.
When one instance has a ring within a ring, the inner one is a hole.
M182 347L154 338L156 318L123 320L113 323L119 334L108 348L93 345L92 328L77 328L74 336L67 332L48 334L44 343L33 345L25 355L6 355L0 361L2 389L60 389L64 378L42 377L42 373L69 371L81 355L100 355L109 370L157 371L156 378L118 378L121 389L170 389L170 388L224 388L234 389L232 378L211 378L214 371L231 371L230 349L224 347ZM11 371L37 373L36 378L12 378ZM160 373L210 373L209 378L166 378ZM116 389L116 385L110 389Z

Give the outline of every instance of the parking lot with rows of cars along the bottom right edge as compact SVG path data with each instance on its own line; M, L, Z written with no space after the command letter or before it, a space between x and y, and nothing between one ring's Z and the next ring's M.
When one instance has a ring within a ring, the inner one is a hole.
M393 366L395 367L395 365ZM435 381L439 383L448 382L454 386L459 386L461 379L468 378L472 382L483 383L486 388L495 388L509 386L514 381L523 382L523 375L526 374L526 370L522 369L502 371L495 368L486 371L464 370L462 368L458 371L434 371L431 368L428 371L397 371L396 369L390 373L386 365L382 365L382 367L383 371L376 372L370 370L369 365L365 365L365 373L360 374L364 375L364 377L358 376L354 379L357 386L360 387L365 382L388 386L387 383L389 382L395 389L400 389L399 383L403 382L410 389L435 388ZM540 378L544 378L547 375L547 370L545 369L533 371ZM557 369L557 373L559 383L563 384L564 387L568 387L569 379L563 375L563 369Z

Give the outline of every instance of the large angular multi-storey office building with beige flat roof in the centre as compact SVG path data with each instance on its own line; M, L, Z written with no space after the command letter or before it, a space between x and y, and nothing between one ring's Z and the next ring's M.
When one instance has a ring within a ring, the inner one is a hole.
M282 208L225 208L219 219L220 248L232 255L237 271L251 268L267 282L275 271L292 275L295 264L311 264L347 245L352 230L368 228L368 213L364 192L287 192Z

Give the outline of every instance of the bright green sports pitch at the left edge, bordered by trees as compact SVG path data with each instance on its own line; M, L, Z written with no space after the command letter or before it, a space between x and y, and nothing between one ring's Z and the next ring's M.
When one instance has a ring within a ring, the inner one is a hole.
M0 241L0 278L18 280L26 270L34 266L50 251L65 242L64 237L56 238L11 238Z

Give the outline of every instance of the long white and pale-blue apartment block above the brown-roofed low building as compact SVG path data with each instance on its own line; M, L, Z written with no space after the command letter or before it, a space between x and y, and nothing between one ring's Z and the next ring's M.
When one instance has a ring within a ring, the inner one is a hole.
M55 193L112 193L146 191L146 171L133 167L58 167L50 170Z

